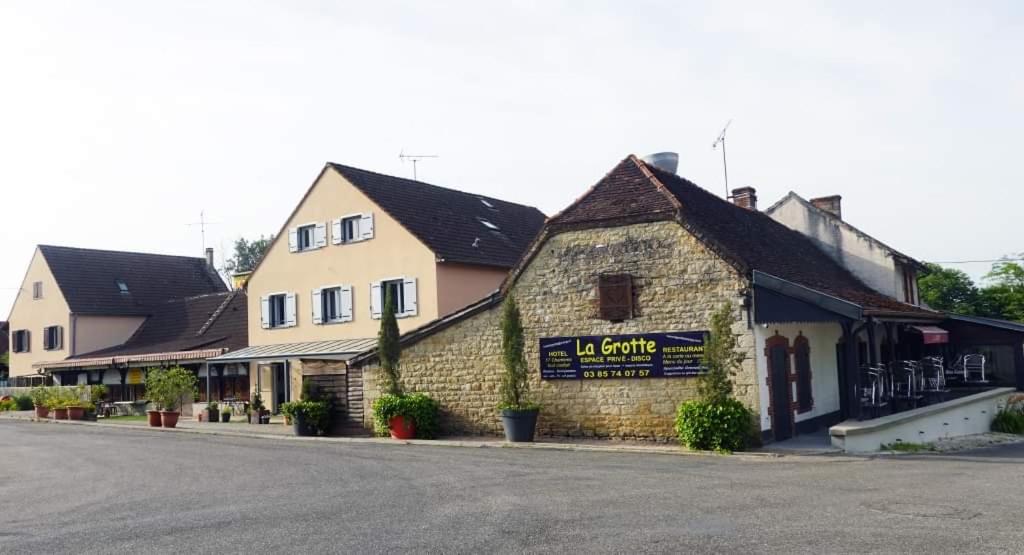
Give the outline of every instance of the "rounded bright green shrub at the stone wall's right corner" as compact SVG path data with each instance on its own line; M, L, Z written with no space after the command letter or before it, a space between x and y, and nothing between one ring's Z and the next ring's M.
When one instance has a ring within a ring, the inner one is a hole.
M688 400L676 413L676 433L684 445L702 451L743 451L754 415L742 402Z

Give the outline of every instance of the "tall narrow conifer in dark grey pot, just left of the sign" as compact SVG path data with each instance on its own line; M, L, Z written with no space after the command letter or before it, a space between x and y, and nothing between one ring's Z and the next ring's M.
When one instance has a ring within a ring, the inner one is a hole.
M529 374L526 371L522 318L515 298L505 299L502 310L502 401L498 410L502 415L505 439L508 441L532 441L537 433L537 416L540 405L527 399Z

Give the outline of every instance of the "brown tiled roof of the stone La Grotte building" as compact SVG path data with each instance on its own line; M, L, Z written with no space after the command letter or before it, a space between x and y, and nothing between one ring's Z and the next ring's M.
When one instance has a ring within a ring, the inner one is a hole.
M869 311L937 315L871 290L809 238L766 214L724 201L633 156L569 208L552 217L550 225L558 228L581 226L588 221L599 224L645 219L678 219L746 275L760 270Z

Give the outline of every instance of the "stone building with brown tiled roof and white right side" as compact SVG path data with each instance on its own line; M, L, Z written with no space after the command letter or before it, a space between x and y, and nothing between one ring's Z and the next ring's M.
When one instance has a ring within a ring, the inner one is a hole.
M729 203L674 172L628 157L548 220L498 293L402 336L402 384L440 402L445 432L501 432L499 325L509 295L522 311L547 435L667 439L676 408L695 394L692 373L668 377L668 361L653 373L556 376L542 368L552 344L701 337L730 305L746 355L735 395L760 415L766 438L782 439L854 413L857 373L845 369L880 354L879 330L942 319L864 285L758 212L753 191ZM379 395L375 353L349 367L361 373L370 407Z

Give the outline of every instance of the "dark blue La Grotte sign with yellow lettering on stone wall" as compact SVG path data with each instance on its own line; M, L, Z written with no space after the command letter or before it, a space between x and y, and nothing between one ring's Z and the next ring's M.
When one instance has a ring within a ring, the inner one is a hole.
M544 380L684 378L701 374L708 332L541 338Z

